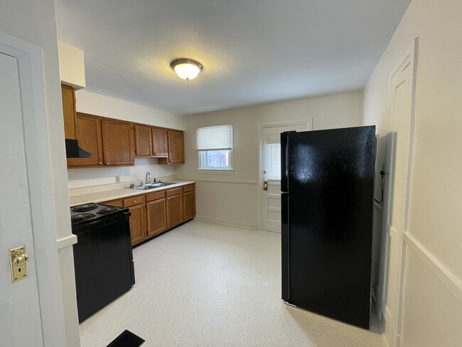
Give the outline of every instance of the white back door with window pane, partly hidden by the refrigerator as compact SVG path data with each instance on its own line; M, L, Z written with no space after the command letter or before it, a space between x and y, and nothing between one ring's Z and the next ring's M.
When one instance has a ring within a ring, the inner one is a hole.
M291 131L306 124L262 129L262 230L281 233L281 132Z

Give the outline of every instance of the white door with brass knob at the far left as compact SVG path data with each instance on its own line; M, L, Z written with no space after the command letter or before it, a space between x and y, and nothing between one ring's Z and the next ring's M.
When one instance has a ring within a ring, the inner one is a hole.
M0 53L0 339L1 346L43 346L18 60ZM11 282L9 249L26 245L28 277Z

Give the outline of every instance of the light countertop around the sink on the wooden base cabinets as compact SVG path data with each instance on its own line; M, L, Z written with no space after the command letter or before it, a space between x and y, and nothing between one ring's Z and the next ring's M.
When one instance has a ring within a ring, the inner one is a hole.
M76 196L70 196L69 202L70 207L75 205L82 205L82 203L102 203L103 201L127 198L129 196L136 196L140 194L151 193L153 191L163 191L165 189L171 189L179 186L184 186L186 184L195 183L194 181L183 181L183 180L174 180L169 182L175 182L169 186L163 186L159 188L152 188L146 191L137 191L134 188L118 188L111 191L97 191L93 193L81 194Z

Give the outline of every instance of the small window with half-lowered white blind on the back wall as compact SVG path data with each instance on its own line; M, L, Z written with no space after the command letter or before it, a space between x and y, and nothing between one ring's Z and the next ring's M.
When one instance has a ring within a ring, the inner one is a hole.
M198 169L232 170L232 124L198 128Z

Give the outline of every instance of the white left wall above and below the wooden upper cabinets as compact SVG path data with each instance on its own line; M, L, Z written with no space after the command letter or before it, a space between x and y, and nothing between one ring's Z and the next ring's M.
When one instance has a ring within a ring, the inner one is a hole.
M183 117L176 114L162 112L150 107L87 92L86 90L77 90L75 99L77 112L171 129L184 129ZM135 166L68 169L68 184L69 188L82 188L115 183L115 176L120 176L121 182L134 181L144 178L148 171L151 178L174 176L177 168L178 165L159 165L155 158L136 158Z

